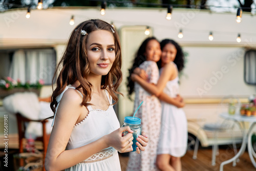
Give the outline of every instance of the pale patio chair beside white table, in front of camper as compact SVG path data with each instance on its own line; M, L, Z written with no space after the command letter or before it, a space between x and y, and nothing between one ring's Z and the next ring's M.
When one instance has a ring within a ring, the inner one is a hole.
M232 103L232 109L227 108L227 105L229 103ZM219 104L219 109L217 109L216 114L219 115L223 112L230 112L232 114L238 114L239 109L240 109L241 103L239 98L234 97L234 96L226 96L224 97L220 104ZM224 111L225 109L225 111ZM227 111L228 109L228 111ZM217 116L219 117L219 116ZM236 155L237 152L237 146L236 146L236 140L234 138L233 135L233 130L234 127L238 125L240 130L241 129L241 124L236 122L236 121L228 121L228 120L220 120L217 119L217 121L215 122L211 122L211 123L204 123L204 125L202 127L200 127L200 129L198 130L198 133L200 131L204 131L204 132L211 132L213 134L213 139L214 139L214 143L212 144L212 156L211 156L211 165L215 166L216 165L216 155L219 155L219 150L218 150L218 138L219 138L219 134L223 133L223 132L227 132L227 131L231 131L231 144L233 145L233 149L234 149L234 154ZM224 142L226 143L226 142ZM223 145L228 145L229 143L223 144ZM196 138L196 143L195 143L195 148L194 148L194 154L193 154L193 159L197 159L197 153L198 153L198 148L199 148L199 138ZM236 165L236 161L233 162L233 166Z

